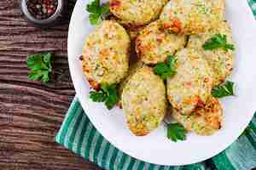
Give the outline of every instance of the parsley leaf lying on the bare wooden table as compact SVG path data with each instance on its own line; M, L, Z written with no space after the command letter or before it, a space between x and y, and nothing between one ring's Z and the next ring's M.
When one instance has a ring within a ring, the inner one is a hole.
M50 53L29 55L26 59L26 65L31 72L27 77L31 80L41 79L42 82L49 82L52 71L51 57L52 54Z

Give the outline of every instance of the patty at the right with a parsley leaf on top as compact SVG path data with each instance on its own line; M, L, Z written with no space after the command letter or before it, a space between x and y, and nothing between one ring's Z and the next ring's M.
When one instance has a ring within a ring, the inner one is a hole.
M203 49L205 42L218 33L226 35L227 42L234 44L232 41L232 30L225 21L220 22L218 28L208 31L201 36L190 36L188 42L189 48L198 48L198 50L203 51L204 58L207 59L208 64L212 67L215 85L218 85L220 82L224 82L225 79L231 75L234 55L234 51L226 51L223 48L216 48L207 51Z

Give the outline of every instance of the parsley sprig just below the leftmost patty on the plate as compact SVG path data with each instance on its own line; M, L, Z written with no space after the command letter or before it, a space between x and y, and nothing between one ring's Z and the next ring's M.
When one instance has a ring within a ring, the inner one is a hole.
M90 92L90 99L94 102L104 102L108 110L111 110L119 102L117 87L115 84L102 83L98 92Z

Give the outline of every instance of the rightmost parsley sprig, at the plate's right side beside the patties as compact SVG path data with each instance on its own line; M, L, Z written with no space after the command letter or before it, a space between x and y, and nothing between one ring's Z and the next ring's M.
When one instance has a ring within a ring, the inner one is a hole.
M215 98L223 98L234 94L234 82L224 82L212 89L212 96Z

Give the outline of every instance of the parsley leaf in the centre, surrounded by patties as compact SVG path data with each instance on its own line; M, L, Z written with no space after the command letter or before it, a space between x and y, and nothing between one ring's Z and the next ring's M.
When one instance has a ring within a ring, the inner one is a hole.
M154 74L159 75L163 80L166 80L167 77L173 77L177 73L176 64L177 59L173 55L168 55L166 63L159 63L154 66Z

